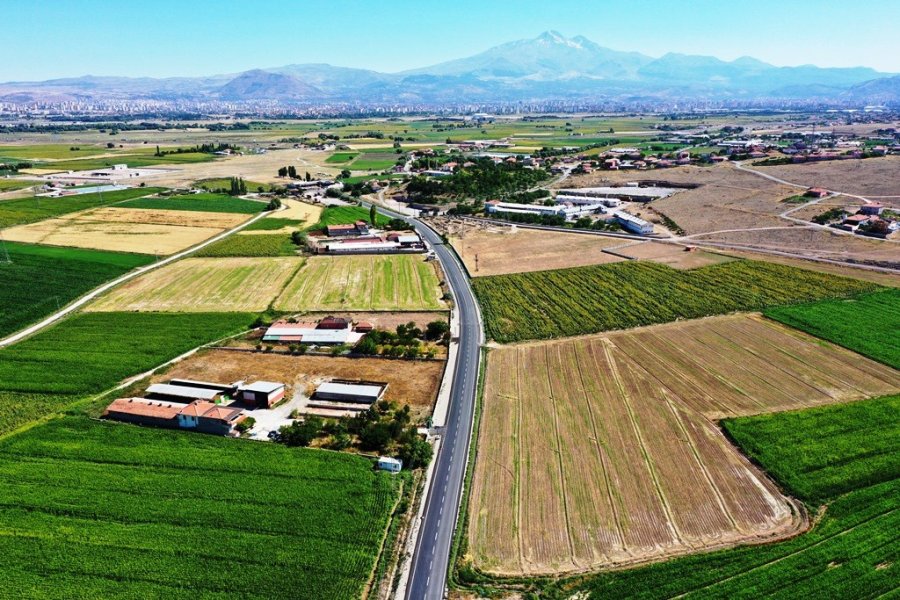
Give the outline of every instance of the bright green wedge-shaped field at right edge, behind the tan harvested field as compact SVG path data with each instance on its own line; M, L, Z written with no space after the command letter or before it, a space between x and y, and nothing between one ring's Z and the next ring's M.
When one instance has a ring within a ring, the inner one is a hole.
M765 315L900 369L900 289L772 308Z

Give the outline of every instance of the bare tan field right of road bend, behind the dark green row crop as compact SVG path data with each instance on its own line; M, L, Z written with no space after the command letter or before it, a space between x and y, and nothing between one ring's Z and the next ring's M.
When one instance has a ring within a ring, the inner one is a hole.
M463 232L461 227L452 229L455 235L451 236L450 243L473 277L547 271L624 260L603 251L604 248L621 245L621 238L503 226L467 228Z

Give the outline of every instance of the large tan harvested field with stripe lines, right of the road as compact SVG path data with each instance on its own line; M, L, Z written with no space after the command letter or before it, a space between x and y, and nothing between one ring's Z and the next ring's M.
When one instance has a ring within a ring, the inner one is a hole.
M802 511L713 419L898 389L900 372L759 316L492 350L475 566L559 573L791 535Z

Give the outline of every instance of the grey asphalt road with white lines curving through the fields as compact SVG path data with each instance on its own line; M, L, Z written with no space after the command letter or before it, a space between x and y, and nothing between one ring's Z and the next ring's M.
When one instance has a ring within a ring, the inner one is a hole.
M406 588L406 597L410 600L438 600L444 597L447 587L450 545L469 457L481 352L481 317L465 270L440 236L415 219L383 208L379 210L392 217L405 218L431 244L441 261L459 311L459 351L450 391L450 410L444 430L440 432L441 446L435 458L431 490L425 499L425 512Z

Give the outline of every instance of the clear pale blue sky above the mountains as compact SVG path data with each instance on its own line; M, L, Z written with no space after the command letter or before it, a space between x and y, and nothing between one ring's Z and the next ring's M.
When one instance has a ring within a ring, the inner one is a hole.
M9 0L0 81L327 62L401 71L548 29L651 56L900 72L900 0Z

